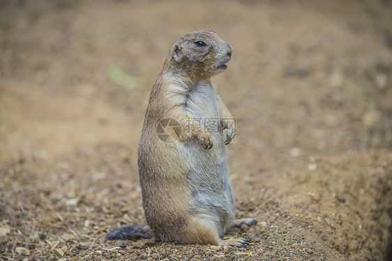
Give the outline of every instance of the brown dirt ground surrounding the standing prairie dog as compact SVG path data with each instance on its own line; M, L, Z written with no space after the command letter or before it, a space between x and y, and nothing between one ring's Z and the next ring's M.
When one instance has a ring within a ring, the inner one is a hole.
M392 260L391 1L0 1L0 260ZM106 241L144 223L137 143L181 35L213 81L244 248Z

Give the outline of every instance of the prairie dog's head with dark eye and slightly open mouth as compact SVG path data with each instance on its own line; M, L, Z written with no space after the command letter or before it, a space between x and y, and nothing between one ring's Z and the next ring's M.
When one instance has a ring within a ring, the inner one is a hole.
M193 77L212 77L227 69L233 47L213 31L188 33L176 42L169 52L170 63L176 72Z

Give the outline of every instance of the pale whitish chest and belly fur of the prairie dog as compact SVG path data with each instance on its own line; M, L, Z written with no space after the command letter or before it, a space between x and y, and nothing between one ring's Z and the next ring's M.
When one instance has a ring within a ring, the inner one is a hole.
M218 97L213 86L202 86L202 93L190 96L188 103L194 118L213 118L220 122ZM193 95L191 93L190 95ZM204 150L197 141L179 143L179 155L188 162L186 178L191 189L190 209L192 216L210 219L216 223L220 235L232 225L234 203L228 179L227 148L223 134L211 132L213 148Z

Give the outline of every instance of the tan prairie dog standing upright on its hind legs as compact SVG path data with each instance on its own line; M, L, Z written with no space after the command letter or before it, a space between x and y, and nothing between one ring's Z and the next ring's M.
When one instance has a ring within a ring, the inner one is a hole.
M227 123L232 114L211 83L227 69L232 52L213 31L188 33L170 49L151 90L138 148L148 226L118 228L107 239L155 236L179 244L248 244L241 238L221 239L234 225L257 223L234 219L226 145L236 130ZM216 122L212 129L206 125L211 119ZM176 139L162 139L162 130Z

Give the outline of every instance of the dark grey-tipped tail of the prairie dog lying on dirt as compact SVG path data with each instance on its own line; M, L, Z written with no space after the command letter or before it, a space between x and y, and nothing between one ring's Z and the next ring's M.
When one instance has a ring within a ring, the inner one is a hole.
M152 238L153 232L147 225L132 225L123 226L109 232L105 238L109 240L114 239L137 239L137 238Z

